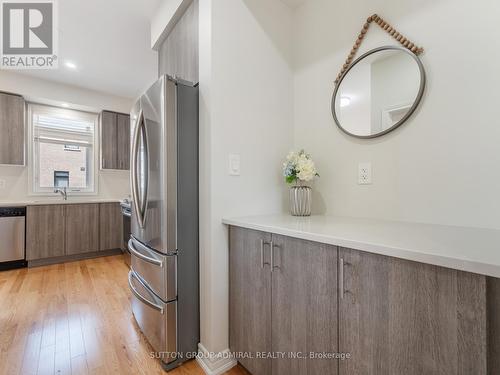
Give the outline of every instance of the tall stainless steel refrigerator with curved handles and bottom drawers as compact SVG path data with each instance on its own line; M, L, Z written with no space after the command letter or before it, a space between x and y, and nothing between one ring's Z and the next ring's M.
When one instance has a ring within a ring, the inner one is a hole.
M199 342L197 85L161 77L131 122L132 312L170 370Z

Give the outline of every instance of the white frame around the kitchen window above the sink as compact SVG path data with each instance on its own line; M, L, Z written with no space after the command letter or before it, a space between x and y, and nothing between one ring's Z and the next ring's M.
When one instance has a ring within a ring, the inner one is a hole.
M86 112L77 109L67 109L60 108L56 106L51 106L47 104L39 103L27 103L27 124L28 124L28 178L29 178L29 192L30 196L52 196L54 195L54 188L42 188L38 185L39 176L39 163L38 157L39 153L36 147L39 145L39 141L35 140L35 129L33 122L33 113L41 113L49 116L62 116L65 118L75 118L75 112L78 113L79 119L84 119L85 121L93 122L94 131L92 136L92 147L89 147L92 152L91 162L88 167L92 170L89 172L89 176L92 179L91 186L88 188L68 188L67 192L69 195L98 195L99 194L99 114L94 112Z

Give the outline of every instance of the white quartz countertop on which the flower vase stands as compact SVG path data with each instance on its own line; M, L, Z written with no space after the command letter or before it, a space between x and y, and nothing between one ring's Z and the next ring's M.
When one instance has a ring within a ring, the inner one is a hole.
M500 230L335 216L267 215L223 223L500 278Z

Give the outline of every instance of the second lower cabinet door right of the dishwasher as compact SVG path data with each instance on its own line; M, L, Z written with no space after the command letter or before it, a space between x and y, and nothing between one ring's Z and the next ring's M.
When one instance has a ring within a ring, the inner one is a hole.
M99 250L99 205L68 204L66 209L66 255Z

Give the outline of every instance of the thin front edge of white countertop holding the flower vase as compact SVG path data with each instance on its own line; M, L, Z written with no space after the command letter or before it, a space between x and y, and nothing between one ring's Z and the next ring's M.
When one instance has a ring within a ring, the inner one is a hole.
M222 223L231 226L254 229L262 232L274 233L302 240L325 243L328 245L345 247L364 252L380 254L380 255L415 261L419 263L431 264L434 266L441 266L445 268L456 269L459 271L466 271L480 275L500 278L500 265L482 263L471 259L463 259L460 257L449 257L421 250L391 247L376 243L350 240L337 237L333 234L327 235L320 233L311 233L306 231L283 228L279 226L258 224L255 222L247 222L244 220L239 220L237 218L223 218Z

